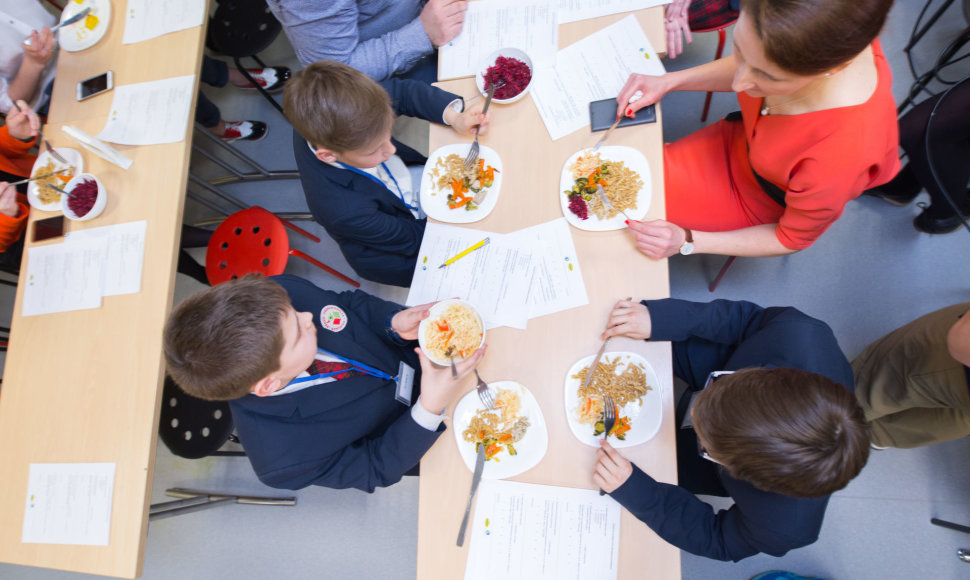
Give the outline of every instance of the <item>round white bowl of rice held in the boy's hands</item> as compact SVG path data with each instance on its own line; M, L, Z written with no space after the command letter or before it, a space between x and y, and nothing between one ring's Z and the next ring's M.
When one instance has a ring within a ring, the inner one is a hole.
M455 362L460 362L485 344L482 315L464 300L442 300L418 325L418 344L431 362L450 365L449 349L454 349Z

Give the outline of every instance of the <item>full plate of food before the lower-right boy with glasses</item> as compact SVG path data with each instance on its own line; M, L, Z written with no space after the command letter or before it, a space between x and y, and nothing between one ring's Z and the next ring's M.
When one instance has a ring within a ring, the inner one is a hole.
M657 373L632 352L607 352L597 363L592 382L583 381L594 355L583 357L566 373L566 422L582 443L599 447L603 438L603 397L613 397L617 421L608 441L613 447L632 447L649 441L660 429L663 406Z

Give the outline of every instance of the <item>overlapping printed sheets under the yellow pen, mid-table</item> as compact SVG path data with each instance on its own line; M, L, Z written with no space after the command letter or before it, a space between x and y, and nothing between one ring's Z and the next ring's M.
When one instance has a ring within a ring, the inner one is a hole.
M445 260L489 238L489 244L444 268ZM530 318L589 303L565 218L496 234L428 223L407 303L459 297L486 328L525 329Z

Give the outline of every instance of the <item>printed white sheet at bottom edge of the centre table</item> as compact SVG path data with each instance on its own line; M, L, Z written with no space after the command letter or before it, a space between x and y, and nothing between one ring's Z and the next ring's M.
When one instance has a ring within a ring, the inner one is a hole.
M486 479L465 580L617 577L620 505L587 489Z

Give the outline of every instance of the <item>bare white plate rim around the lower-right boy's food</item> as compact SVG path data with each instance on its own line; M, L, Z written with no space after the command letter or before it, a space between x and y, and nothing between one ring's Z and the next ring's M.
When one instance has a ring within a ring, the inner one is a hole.
M609 439L610 445L613 447L633 447L634 445L649 441L660 429L660 420L663 418L663 405L660 401L660 381L657 379L657 373L654 372L650 363L636 353L620 351L606 352L603 353L601 362L612 362L618 356L623 357L623 361L626 364L642 364L644 366L643 373L647 377L647 385L651 387L651 390L647 391L647 394L641 397L642 405L637 404L636 401L631 401L620 409L621 417L630 418L630 430L626 432L626 439L620 440L616 437L610 437ZM574 379L573 375L579 374L581 370L592 364L595 357L596 355L583 357L576 361L576 364L569 369L569 372L566 373L565 394L563 398L566 406L566 422L569 423L569 428L572 429L576 439L579 439L580 442L590 447L599 447L603 436L593 437L593 426L580 423L576 419L576 409L580 404L577 392L583 384L579 379ZM626 369L626 365L617 365L617 374L622 373L624 369Z

